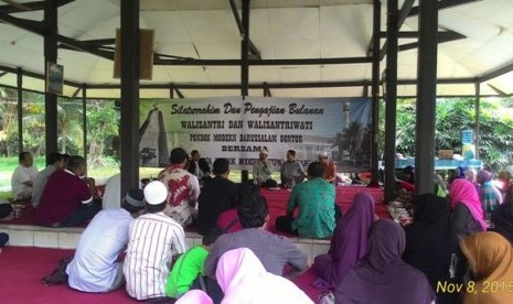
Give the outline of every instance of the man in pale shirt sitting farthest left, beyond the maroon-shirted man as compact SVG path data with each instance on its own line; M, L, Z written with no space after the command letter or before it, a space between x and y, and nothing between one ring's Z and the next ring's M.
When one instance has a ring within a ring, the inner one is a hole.
M12 196L14 200L30 199L34 178L39 171L34 166L34 159L30 152L21 152L18 159L20 164L11 177Z

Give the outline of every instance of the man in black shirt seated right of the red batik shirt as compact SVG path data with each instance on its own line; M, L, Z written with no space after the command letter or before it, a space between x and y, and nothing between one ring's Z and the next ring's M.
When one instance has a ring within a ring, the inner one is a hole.
M213 169L215 177L205 182L199 198L196 228L200 235L212 230L221 213L235 208L237 203L237 184L228 180L228 161L217 159Z

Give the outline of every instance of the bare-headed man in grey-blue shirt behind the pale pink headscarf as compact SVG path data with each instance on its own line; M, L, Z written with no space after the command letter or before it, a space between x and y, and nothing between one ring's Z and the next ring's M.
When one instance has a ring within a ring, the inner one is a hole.
M215 278L215 269L221 256L239 247L252 249L264 263L266 270L278 275L284 273L286 264L290 264L298 271L307 269L307 254L304 252L288 238L266 230L269 213L264 196L257 194L241 199L237 214L244 229L223 235L215 241L205 261L206 275Z

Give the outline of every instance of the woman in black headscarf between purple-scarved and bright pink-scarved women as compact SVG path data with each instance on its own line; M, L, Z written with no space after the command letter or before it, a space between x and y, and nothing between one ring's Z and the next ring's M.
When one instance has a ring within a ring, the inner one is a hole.
M460 283L456 275L458 243L447 236L450 231L450 207L435 194L417 195L413 199L414 222L405 227L406 249L403 259L426 274L431 287L438 282ZM437 293L437 304L455 303L456 293Z

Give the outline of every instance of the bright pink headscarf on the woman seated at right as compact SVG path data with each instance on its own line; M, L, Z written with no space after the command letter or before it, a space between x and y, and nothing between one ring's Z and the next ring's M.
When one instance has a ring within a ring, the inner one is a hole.
M483 230L487 230L481 202L479 200L478 192L472 183L462 178L455 180L450 185L449 196L452 209L456 208L456 205L459 203L464 204L472 214L472 217L479 222Z

